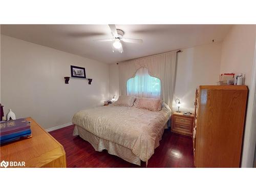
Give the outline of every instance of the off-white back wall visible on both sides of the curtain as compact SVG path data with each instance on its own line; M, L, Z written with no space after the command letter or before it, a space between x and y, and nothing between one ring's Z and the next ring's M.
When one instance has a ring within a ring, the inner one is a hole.
M221 43L183 49L178 53L175 99L181 101L181 111L194 112L195 92L199 85L216 84L219 80ZM118 65L110 66L110 95L119 95Z

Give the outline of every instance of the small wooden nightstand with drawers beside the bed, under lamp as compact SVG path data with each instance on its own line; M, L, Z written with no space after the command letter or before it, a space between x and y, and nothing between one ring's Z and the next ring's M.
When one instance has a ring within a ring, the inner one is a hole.
M183 115L183 113L174 112L172 114L171 131L183 135L193 135L194 114Z

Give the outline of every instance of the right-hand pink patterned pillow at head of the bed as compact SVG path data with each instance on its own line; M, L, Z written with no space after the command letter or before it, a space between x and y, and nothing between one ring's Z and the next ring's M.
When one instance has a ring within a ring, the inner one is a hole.
M161 111L162 102L161 99L139 98L138 108L150 111Z

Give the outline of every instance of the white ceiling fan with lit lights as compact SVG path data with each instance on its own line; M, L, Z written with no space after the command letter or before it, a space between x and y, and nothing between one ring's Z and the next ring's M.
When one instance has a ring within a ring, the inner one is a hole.
M124 32L121 29L116 29L116 25L109 25L112 32L113 38L110 39L94 39L95 41L114 41L112 46L112 51L117 49L119 53L123 52L121 41L131 42L133 44L142 44L142 39L132 39L132 38L123 38Z

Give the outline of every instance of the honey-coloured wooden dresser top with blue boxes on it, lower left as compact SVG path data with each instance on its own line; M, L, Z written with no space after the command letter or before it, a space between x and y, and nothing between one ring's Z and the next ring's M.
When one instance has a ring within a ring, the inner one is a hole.
M32 118L27 120L31 121L32 137L1 145L0 161L25 162L25 167L66 167L63 146Z

